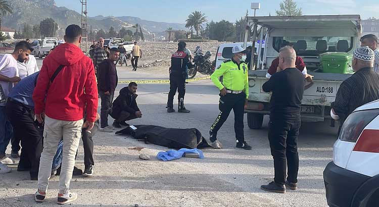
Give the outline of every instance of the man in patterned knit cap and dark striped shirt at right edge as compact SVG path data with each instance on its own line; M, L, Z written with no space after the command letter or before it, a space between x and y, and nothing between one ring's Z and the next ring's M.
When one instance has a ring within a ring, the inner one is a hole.
M342 82L336 100L331 103L330 114L334 119L340 120L340 130L356 108L379 99L379 74L373 71L374 51L368 46L357 48L353 54L352 66L355 73Z

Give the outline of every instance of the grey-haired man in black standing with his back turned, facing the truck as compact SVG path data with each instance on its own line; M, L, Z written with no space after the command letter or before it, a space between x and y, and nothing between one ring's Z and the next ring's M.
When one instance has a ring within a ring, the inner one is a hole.
M296 52L291 46L279 50L279 68L262 86L271 92L268 140L274 159L274 181L261 188L285 193L286 186L297 189L299 154L297 139L300 129L301 101L304 94L304 75L296 69ZM286 170L288 176L286 179Z

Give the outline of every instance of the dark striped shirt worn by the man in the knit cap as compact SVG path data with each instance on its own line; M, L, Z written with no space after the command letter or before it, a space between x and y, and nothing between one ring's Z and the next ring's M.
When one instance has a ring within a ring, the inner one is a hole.
M362 68L341 83L331 108L340 117L341 126L358 107L379 99L379 74L372 68Z

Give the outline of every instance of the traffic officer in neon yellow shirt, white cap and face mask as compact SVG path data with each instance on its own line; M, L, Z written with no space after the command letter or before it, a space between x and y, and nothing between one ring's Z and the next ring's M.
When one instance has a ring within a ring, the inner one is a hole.
M244 111L249 96L248 65L245 63L246 50L242 45L235 45L232 48L233 57L231 60L222 63L211 75L211 80L220 89L220 114L211 126L209 131L211 145L214 148L221 148L221 143L217 140L217 131L228 118L230 111L234 112L234 131L236 147L252 149L244 138ZM222 83L219 77L223 76Z

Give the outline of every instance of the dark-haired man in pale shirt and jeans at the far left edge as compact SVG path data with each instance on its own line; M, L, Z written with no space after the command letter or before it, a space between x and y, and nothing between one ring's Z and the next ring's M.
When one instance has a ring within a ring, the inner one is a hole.
M13 136L12 125L5 113L6 100L13 88L13 84L21 80L18 77L17 61L24 62L31 50L33 49L27 41L20 41L16 44L12 54L0 56L0 85L3 89L0 95L0 173L9 173L11 171L10 168L2 163L7 159L4 159L6 157L5 151Z

